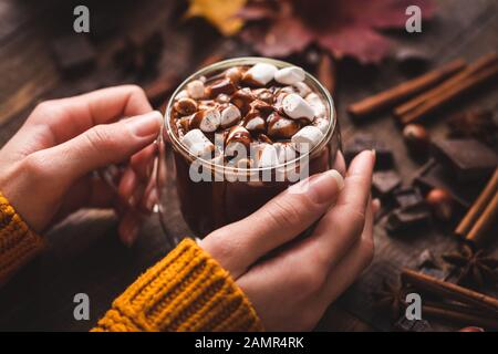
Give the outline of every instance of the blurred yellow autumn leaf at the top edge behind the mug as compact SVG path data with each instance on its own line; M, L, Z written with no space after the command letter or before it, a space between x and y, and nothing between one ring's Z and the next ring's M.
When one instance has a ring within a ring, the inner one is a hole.
M203 17L224 35L237 33L243 21L237 17L247 0L190 0L186 17Z

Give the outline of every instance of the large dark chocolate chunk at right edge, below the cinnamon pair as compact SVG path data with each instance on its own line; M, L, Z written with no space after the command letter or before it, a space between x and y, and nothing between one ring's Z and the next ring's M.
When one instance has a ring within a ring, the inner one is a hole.
M485 179L498 166L498 155L476 139L434 142L432 154L458 181Z

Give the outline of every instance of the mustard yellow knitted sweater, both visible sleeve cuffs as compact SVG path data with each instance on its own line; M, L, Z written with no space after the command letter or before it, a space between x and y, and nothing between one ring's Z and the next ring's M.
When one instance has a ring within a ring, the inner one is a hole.
M43 249L0 194L0 287ZM229 273L190 239L142 274L92 331L261 331Z

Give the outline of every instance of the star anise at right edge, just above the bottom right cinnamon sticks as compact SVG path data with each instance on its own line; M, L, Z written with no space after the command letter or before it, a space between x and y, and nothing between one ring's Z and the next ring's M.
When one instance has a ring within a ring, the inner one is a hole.
M464 244L457 252L442 256L443 260L457 270L457 284L478 288L496 288L498 284L498 258L487 256L484 250L475 251Z

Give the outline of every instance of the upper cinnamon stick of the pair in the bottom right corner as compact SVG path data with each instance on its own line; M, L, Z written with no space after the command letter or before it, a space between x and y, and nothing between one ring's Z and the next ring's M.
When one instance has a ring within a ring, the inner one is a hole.
M498 316L498 299L459 287L457 284L442 281L407 268L403 269L402 279L415 288L419 288L436 295L445 296L448 300L455 300L464 304L473 305L484 311L491 311L491 313Z

